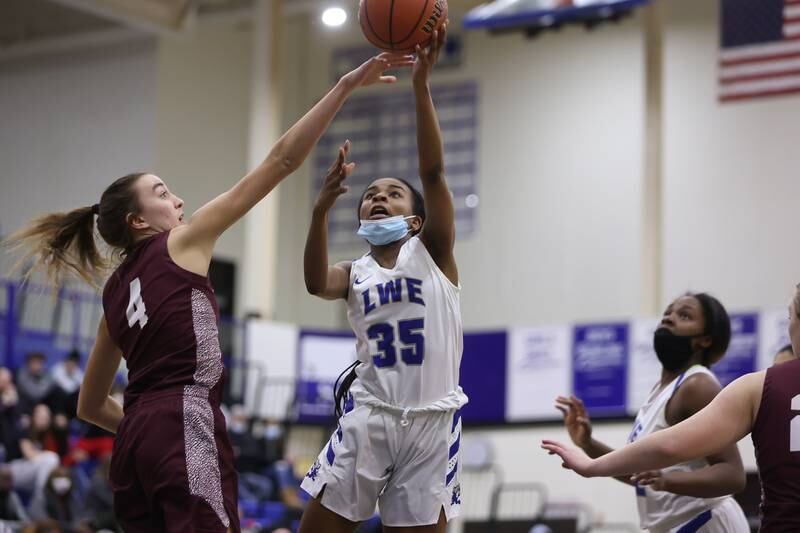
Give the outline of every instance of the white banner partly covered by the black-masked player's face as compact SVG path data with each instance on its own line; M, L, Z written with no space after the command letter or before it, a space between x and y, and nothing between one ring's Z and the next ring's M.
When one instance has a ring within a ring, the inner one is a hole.
M627 413L635 416L644 405L653 386L661 379L661 362L653 349L653 333L661 319L642 318L631 322L628 352Z

